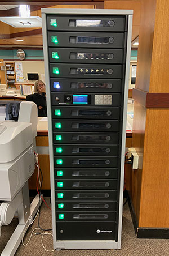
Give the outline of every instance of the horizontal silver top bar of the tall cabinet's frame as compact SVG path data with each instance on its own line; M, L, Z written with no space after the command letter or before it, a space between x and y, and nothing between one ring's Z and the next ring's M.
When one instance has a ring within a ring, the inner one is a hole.
M133 10L109 10L109 9L48 9L42 8L42 14L94 14L94 15L132 15ZM42 26L43 28L43 26Z

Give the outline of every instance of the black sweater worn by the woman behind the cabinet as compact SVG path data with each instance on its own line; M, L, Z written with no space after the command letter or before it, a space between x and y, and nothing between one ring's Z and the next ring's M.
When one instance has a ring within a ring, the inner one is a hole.
M37 104L38 117L47 117L45 94L45 92L42 92L42 95L40 95L39 93L34 93L26 96L26 100L33 101L35 104ZM39 109L39 106L42 106L42 109Z

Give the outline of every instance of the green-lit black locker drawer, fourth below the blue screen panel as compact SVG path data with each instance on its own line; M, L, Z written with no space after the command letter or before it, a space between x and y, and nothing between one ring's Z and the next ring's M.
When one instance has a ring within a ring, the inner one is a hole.
M117 156L118 145L61 144L54 145L55 156Z

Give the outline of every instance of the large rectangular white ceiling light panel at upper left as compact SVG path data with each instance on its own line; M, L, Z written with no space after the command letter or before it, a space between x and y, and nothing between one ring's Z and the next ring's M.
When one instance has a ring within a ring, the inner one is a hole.
M30 18L20 17L0 17L0 21L14 28L41 28L42 19L38 16L30 16Z

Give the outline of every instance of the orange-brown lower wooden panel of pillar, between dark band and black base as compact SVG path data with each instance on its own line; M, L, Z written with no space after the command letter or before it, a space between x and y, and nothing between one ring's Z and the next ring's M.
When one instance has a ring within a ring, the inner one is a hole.
M141 185L140 227L169 224L169 109L148 109Z

